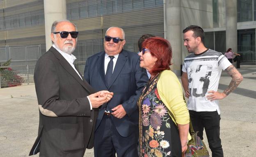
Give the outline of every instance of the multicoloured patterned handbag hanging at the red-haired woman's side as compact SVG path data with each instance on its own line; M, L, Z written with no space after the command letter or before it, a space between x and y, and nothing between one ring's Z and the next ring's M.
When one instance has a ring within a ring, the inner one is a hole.
M194 132L191 120L190 120L190 133L191 139L187 142L187 150L184 153L184 157L209 157L209 152L204 144L203 140L197 136L197 132Z

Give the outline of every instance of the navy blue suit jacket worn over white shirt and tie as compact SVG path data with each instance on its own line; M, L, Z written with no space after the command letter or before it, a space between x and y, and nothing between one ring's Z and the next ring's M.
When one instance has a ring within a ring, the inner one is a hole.
M139 113L137 100L149 78L146 69L140 68L137 53L122 50L114 67L110 86L107 86L104 71L105 51L89 57L85 64L84 78L97 91L108 90L114 95L108 104L103 104L99 109L96 128L108 105L112 108L123 105L126 115L119 119L111 115L119 134L128 137L131 133L138 132Z

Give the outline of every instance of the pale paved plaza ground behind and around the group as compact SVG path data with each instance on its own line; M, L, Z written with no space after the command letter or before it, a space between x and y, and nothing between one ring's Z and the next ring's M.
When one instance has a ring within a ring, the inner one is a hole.
M239 71L243 82L220 100L225 157L251 157L256 152L256 66L244 65ZM219 91L231 80L222 74ZM27 157L37 137L38 112L33 84L0 89L0 157ZM207 144L206 137L204 141ZM93 150L86 150L85 157L93 157Z

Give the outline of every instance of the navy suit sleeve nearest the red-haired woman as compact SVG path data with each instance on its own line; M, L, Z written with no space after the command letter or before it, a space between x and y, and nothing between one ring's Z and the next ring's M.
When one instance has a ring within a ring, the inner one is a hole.
M130 116L134 111L137 110L137 101L139 99L139 96L141 95L145 84L149 81L149 77L146 73L146 69L141 68L139 66L139 58L137 59L137 62L135 64L134 75L135 75L134 83L136 84L135 94L130 96L130 98L127 101L123 102L122 104L128 116Z

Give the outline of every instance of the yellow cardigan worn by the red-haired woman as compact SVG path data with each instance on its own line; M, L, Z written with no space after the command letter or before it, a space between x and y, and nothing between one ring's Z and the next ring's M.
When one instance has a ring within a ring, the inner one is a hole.
M168 112L174 115L176 122L173 118L172 120L176 124L188 124L190 116L183 99L183 90L178 77L170 70L162 71L157 83L157 89L162 102L168 108ZM188 139L191 139L190 134L188 134Z

